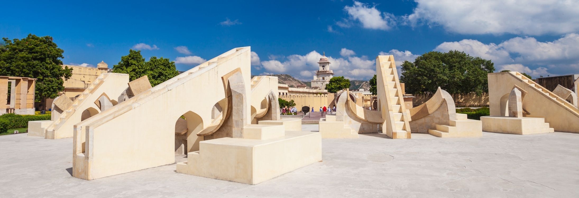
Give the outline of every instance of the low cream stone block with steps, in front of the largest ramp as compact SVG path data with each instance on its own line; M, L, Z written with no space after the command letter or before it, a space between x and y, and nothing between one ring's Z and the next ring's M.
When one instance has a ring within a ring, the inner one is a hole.
M177 163L177 172L259 184L296 168L321 160L320 133L286 131L267 140L219 138L200 142L200 151L190 152L187 162Z

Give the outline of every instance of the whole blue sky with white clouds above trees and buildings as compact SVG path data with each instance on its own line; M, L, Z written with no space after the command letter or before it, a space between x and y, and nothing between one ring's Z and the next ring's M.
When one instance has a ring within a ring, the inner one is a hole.
M374 58L397 65L461 50L497 71L579 74L579 3L514 1L4 2L0 36L50 35L65 64L112 65L129 49L170 58L180 71L251 46L252 74L311 80L325 52L336 75L368 80Z

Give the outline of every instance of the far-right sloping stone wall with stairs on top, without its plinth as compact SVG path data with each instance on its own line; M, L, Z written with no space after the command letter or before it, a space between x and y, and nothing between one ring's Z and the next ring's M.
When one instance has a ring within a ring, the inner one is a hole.
M491 116L508 116L509 96L514 87L525 91L523 117L544 118L555 131L579 133L579 110L519 72L488 74Z

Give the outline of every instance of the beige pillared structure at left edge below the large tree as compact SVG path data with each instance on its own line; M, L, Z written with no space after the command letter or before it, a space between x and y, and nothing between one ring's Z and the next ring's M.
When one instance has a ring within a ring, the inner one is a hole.
M0 115L34 115L35 89L35 78L0 76Z

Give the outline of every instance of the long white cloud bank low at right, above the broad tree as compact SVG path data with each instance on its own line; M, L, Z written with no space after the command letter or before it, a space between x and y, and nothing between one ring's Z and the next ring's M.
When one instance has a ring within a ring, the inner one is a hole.
M579 72L578 34L567 34L551 42L540 42L533 37L515 37L498 45L464 39L459 42L441 43L434 50L463 51L471 56L492 60L496 71L526 72L534 78L539 75L567 75Z

